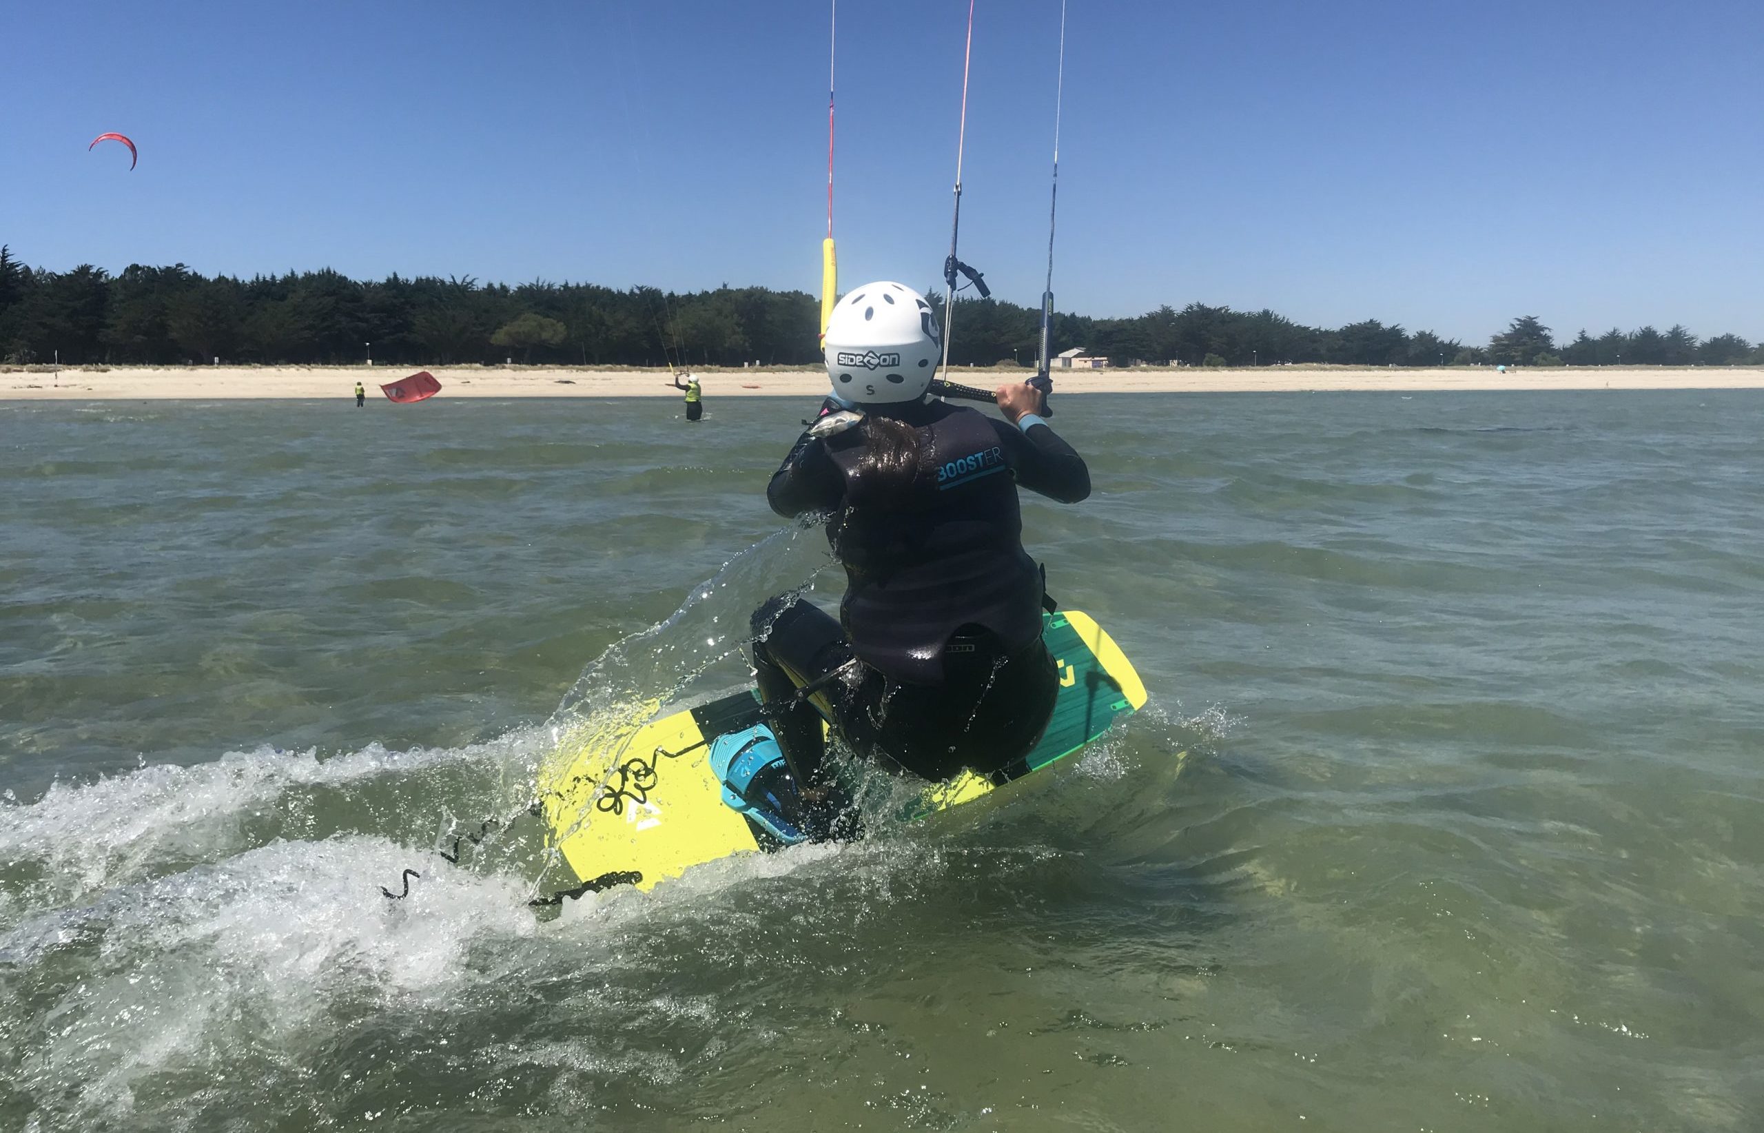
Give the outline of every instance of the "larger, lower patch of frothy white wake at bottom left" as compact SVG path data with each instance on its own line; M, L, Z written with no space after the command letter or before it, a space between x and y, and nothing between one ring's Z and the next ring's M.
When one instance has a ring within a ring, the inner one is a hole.
M469 981L475 944L534 934L510 879L432 868L383 900L370 879L407 858L385 838L280 842L16 928L0 962L46 1011L12 1018L9 1077L48 1128L127 1124L145 1082L286 1062L342 1020Z

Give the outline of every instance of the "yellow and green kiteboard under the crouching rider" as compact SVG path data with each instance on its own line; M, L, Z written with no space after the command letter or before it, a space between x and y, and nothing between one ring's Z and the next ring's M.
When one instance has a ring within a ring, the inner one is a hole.
M916 815L947 810L1081 750L1145 704L1145 685L1115 641L1078 611L1044 614L1043 641L1060 671L1060 695L1041 743L981 777L963 771L924 789ZM542 777L545 824L582 889L649 889L688 868L774 849L767 831L725 801L711 766L720 736L760 724L755 692L662 717L621 734L566 738Z

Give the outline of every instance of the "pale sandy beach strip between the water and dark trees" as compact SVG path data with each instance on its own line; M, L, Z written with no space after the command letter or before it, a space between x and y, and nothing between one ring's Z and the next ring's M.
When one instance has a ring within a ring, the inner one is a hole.
M439 397L679 397L667 371L554 367L423 367L441 381ZM7 401L148 401L353 395L355 383L381 401L379 385L415 372L406 367L44 367L0 369ZM695 371L706 399L813 397L826 388L818 369ZM1021 381L1030 371L953 369L963 385ZM1120 369L1055 372L1064 394L1275 394L1305 390L1716 390L1760 388L1764 367L1494 367L1357 369L1281 365L1261 369Z

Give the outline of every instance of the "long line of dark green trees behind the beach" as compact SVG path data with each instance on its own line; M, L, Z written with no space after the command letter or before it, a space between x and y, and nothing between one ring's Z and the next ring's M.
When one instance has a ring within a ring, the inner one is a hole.
M933 304L942 293L928 289ZM0 362L395 365L515 358L570 365L806 365L818 362L815 296L769 288L677 295L637 286L480 284L471 277L392 275L358 282L337 272L203 277L182 263L131 265L120 275L81 265L30 268L0 247ZM1041 312L997 300L961 302L951 362L1032 364ZM1581 332L1559 344L1535 316L1487 346L1378 319L1304 326L1272 311L1189 304L1118 319L1057 314L1053 349L1081 348L1117 365L1738 365L1764 346L1723 334Z

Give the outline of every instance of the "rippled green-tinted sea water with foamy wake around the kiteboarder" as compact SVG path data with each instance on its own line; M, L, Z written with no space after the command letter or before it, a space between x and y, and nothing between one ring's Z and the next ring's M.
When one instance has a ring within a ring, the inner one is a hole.
M0 406L0 1128L1764 1122L1764 397L1065 399L1104 747L563 919L437 858L838 593L806 409Z

